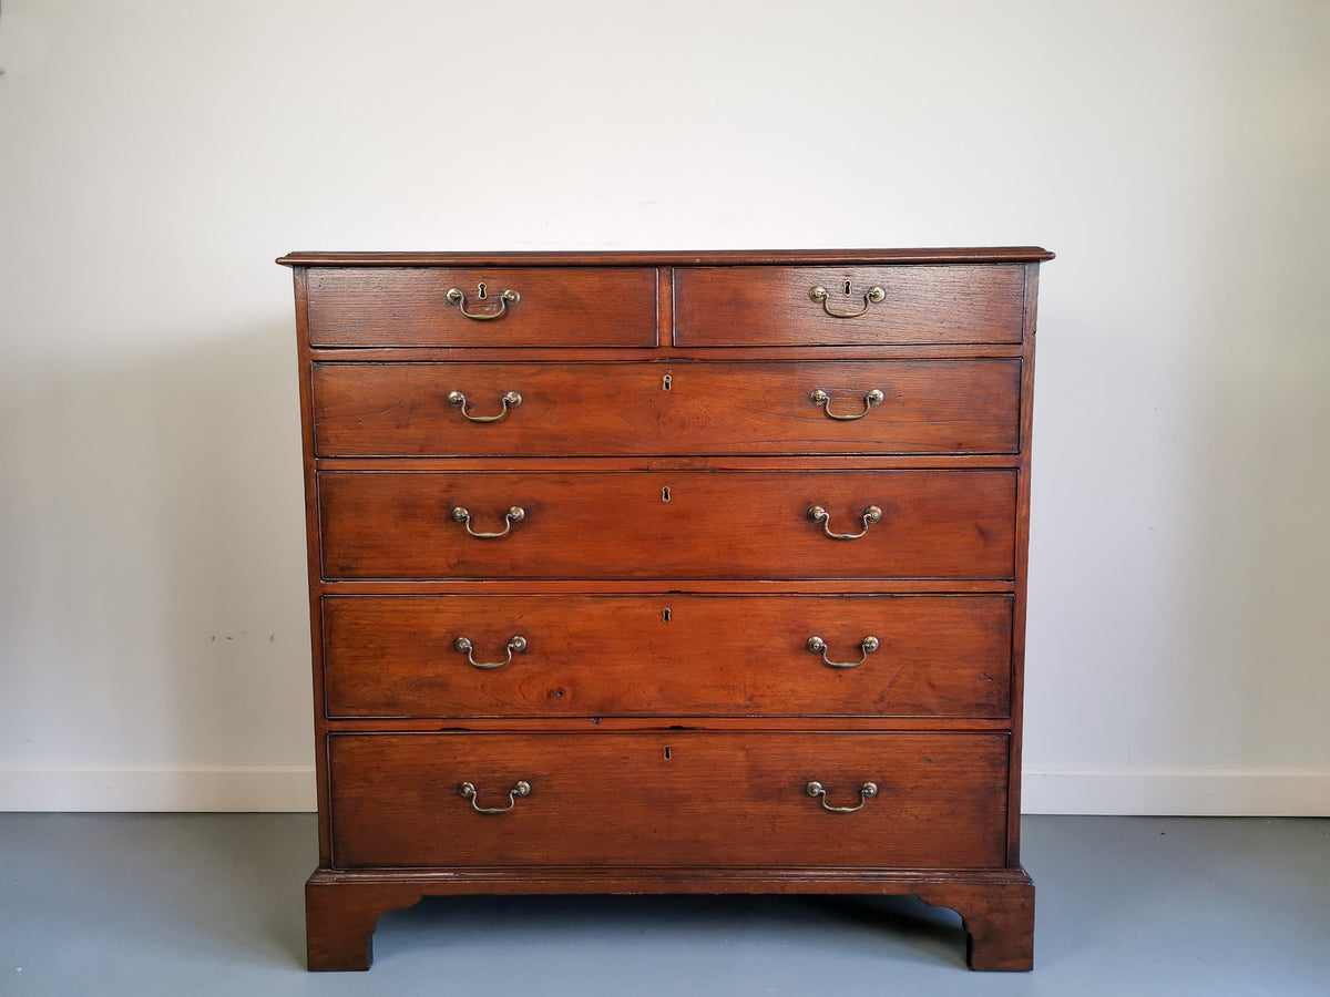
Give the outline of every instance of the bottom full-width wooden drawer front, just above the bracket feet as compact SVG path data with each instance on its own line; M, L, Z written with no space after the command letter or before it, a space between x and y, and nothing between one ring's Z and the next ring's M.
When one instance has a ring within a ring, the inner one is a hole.
M340 868L1001 867L1007 752L992 732L335 734L332 857ZM519 782L528 795L509 795ZM826 796L810 796L810 782ZM867 782L878 792L862 810L823 808L857 806Z

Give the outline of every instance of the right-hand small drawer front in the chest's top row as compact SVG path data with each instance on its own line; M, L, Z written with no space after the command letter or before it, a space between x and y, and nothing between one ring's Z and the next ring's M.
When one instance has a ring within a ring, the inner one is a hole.
M1024 298L1021 266L680 269L674 343L1019 343Z

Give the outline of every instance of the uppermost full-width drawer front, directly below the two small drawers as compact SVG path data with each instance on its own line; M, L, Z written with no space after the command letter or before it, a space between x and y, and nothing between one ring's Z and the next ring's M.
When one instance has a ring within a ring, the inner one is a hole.
M1019 360L314 364L321 456L1012 453L1019 403Z

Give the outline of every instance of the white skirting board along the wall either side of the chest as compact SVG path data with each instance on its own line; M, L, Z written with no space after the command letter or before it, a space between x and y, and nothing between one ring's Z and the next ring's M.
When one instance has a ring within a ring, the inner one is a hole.
M0 811L305 812L313 766L0 764ZM1025 814L1330 816L1330 770L1031 768Z

